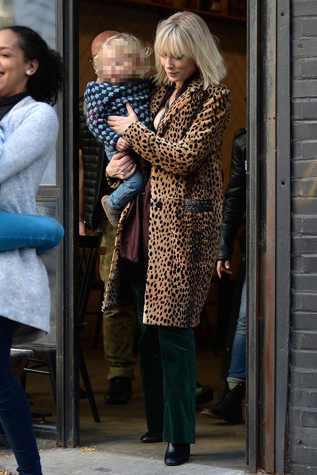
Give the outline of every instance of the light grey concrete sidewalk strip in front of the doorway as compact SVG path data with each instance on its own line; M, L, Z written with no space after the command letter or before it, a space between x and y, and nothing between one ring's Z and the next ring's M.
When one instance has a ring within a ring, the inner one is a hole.
M150 451L149 451L150 452ZM191 455L184 465L168 467L157 455L140 456L122 454L94 447L56 448L40 451L43 475L244 475L246 471L225 468L199 461L200 456ZM16 461L11 450L0 450L0 466L9 474L16 472Z

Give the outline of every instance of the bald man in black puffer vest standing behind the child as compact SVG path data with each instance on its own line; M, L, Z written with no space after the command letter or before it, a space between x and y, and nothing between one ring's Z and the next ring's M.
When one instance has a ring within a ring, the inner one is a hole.
M92 42L92 55L95 56L102 43L116 32L100 33ZM89 61L91 58L89 58ZM115 246L117 229L111 226L101 205L101 198L110 195L114 188L108 185L105 168L108 159L104 145L94 137L86 125L86 107L83 97L79 100L79 155L80 155L80 198L79 232L86 233L98 229L102 242L107 248L100 255L99 273L106 286L109 276L112 252ZM105 359L109 362L107 379L109 389L104 395L108 404L123 404L132 395L131 380L134 379L133 358L134 308L103 312L103 343Z

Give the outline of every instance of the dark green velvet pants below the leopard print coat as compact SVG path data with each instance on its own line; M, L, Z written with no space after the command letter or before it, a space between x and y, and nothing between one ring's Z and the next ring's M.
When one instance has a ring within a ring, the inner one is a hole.
M195 443L196 355L192 328L145 325L146 273L132 291L141 328L139 362L147 429L173 444Z

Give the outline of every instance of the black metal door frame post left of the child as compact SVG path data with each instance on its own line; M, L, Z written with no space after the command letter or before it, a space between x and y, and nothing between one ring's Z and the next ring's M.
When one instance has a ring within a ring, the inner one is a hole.
M34 424L36 438L57 445L79 445L79 112L78 2L56 0L56 50L65 80L57 102L57 183L40 187L37 197L55 197L57 219L65 229L57 252L58 318L56 335L56 426Z

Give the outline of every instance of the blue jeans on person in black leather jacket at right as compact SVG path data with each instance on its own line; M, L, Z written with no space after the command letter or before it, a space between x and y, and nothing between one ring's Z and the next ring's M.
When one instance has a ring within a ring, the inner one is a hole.
M229 376L245 379L245 348L246 348L246 277L244 278L239 318L232 345Z

